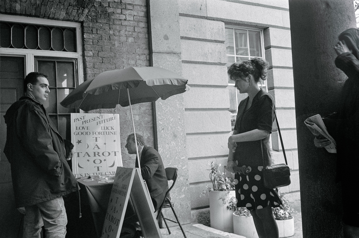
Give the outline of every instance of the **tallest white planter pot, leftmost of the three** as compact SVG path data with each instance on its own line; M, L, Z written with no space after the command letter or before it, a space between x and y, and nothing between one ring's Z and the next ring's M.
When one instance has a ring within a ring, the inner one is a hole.
M209 208L211 227L224 232L233 233L232 210L228 210L228 203L223 203L222 198L236 197L236 191L209 191Z

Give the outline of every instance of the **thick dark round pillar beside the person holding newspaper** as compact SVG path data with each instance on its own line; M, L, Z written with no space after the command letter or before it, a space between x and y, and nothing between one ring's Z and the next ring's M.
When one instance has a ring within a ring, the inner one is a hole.
M336 156L314 147L309 116L337 110L346 76L334 65L334 45L356 27L352 0L289 0L303 237L342 237Z

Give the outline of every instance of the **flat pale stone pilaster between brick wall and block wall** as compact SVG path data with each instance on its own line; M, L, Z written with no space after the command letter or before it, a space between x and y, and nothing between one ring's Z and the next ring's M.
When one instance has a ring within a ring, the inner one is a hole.
M180 23L177 0L148 0L151 66L182 75ZM182 94L154 103L155 143L164 167L178 168L176 185L171 190L172 201L182 224L191 222L191 203L186 155L185 104ZM164 216L172 211L164 209ZM174 225L169 222L168 225Z

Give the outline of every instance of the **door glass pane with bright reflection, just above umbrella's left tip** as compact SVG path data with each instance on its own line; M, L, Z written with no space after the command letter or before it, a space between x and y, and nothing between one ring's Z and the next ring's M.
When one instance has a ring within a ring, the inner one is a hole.
M75 87L73 62L57 62L56 69L57 87Z

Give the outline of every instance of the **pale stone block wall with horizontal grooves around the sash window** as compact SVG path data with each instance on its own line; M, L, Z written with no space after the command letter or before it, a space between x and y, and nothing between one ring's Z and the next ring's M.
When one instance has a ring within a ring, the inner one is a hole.
M292 184L282 192L299 196L299 170L294 108L294 84L288 1L179 0L182 74L191 91L185 95L187 156L192 220L206 220L211 185L208 161L227 163L229 96L224 28L226 24L263 29L265 58L270 64L267 86L277 107L278 120ZM274 163L284 163L276 124L272 133Z

